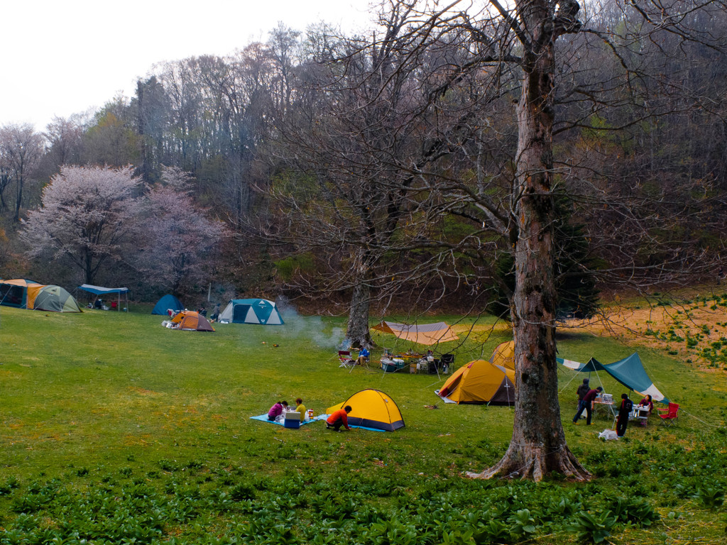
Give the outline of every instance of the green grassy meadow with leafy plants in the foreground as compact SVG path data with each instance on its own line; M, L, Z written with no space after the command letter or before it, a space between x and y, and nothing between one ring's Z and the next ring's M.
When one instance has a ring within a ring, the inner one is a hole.
M570 424L581 377L563 371L569 445L593 482L472 481L462 472L494 464L507 448L512 409L438 403L437 376L339 368L337 318L204 334L162 328L149 311L0 308L0 544L718 544L725 537L723 375L640 350L654 382L684 412L675 427L651 422L604 443L597 435L610 417ZM377 340L394 347L393 337ZM463 342L456 366L487 357L502 340L501 333ZM563 334L558 350L602 362L633 351L577 332ZM601 378L615 397L624 391ZM320 423L293 430L249 419L297 396L321 413L366 387L393 397L405 428L334 433Z

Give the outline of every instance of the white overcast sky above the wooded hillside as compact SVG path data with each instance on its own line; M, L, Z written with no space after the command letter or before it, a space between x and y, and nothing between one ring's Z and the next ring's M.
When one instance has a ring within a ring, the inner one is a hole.
M53 116L131 97L156 62L228 55L278 21L364 26L369 1L0 0L0 126L42 131Z

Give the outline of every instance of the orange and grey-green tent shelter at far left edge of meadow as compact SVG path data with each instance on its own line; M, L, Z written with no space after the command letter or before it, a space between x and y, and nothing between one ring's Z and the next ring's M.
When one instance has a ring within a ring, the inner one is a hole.
M0 304L49 312L81 312L73 296L60 286L16 278L0 280Z

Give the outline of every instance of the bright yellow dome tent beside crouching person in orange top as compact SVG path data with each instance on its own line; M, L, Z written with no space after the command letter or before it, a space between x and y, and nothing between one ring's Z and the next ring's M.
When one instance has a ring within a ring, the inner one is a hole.
M386 432L393 432L395 429L404 427L398 406L389 395L380 390L363 389L343 403L329 407L326 413L332 414L346 405L353 408L348 413L348 425L351 427Z

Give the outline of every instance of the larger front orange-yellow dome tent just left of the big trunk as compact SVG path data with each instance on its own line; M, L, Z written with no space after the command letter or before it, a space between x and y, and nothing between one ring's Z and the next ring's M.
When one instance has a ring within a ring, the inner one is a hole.
M515 371L486 360L460 367L435 391L445 403L515 404Z

